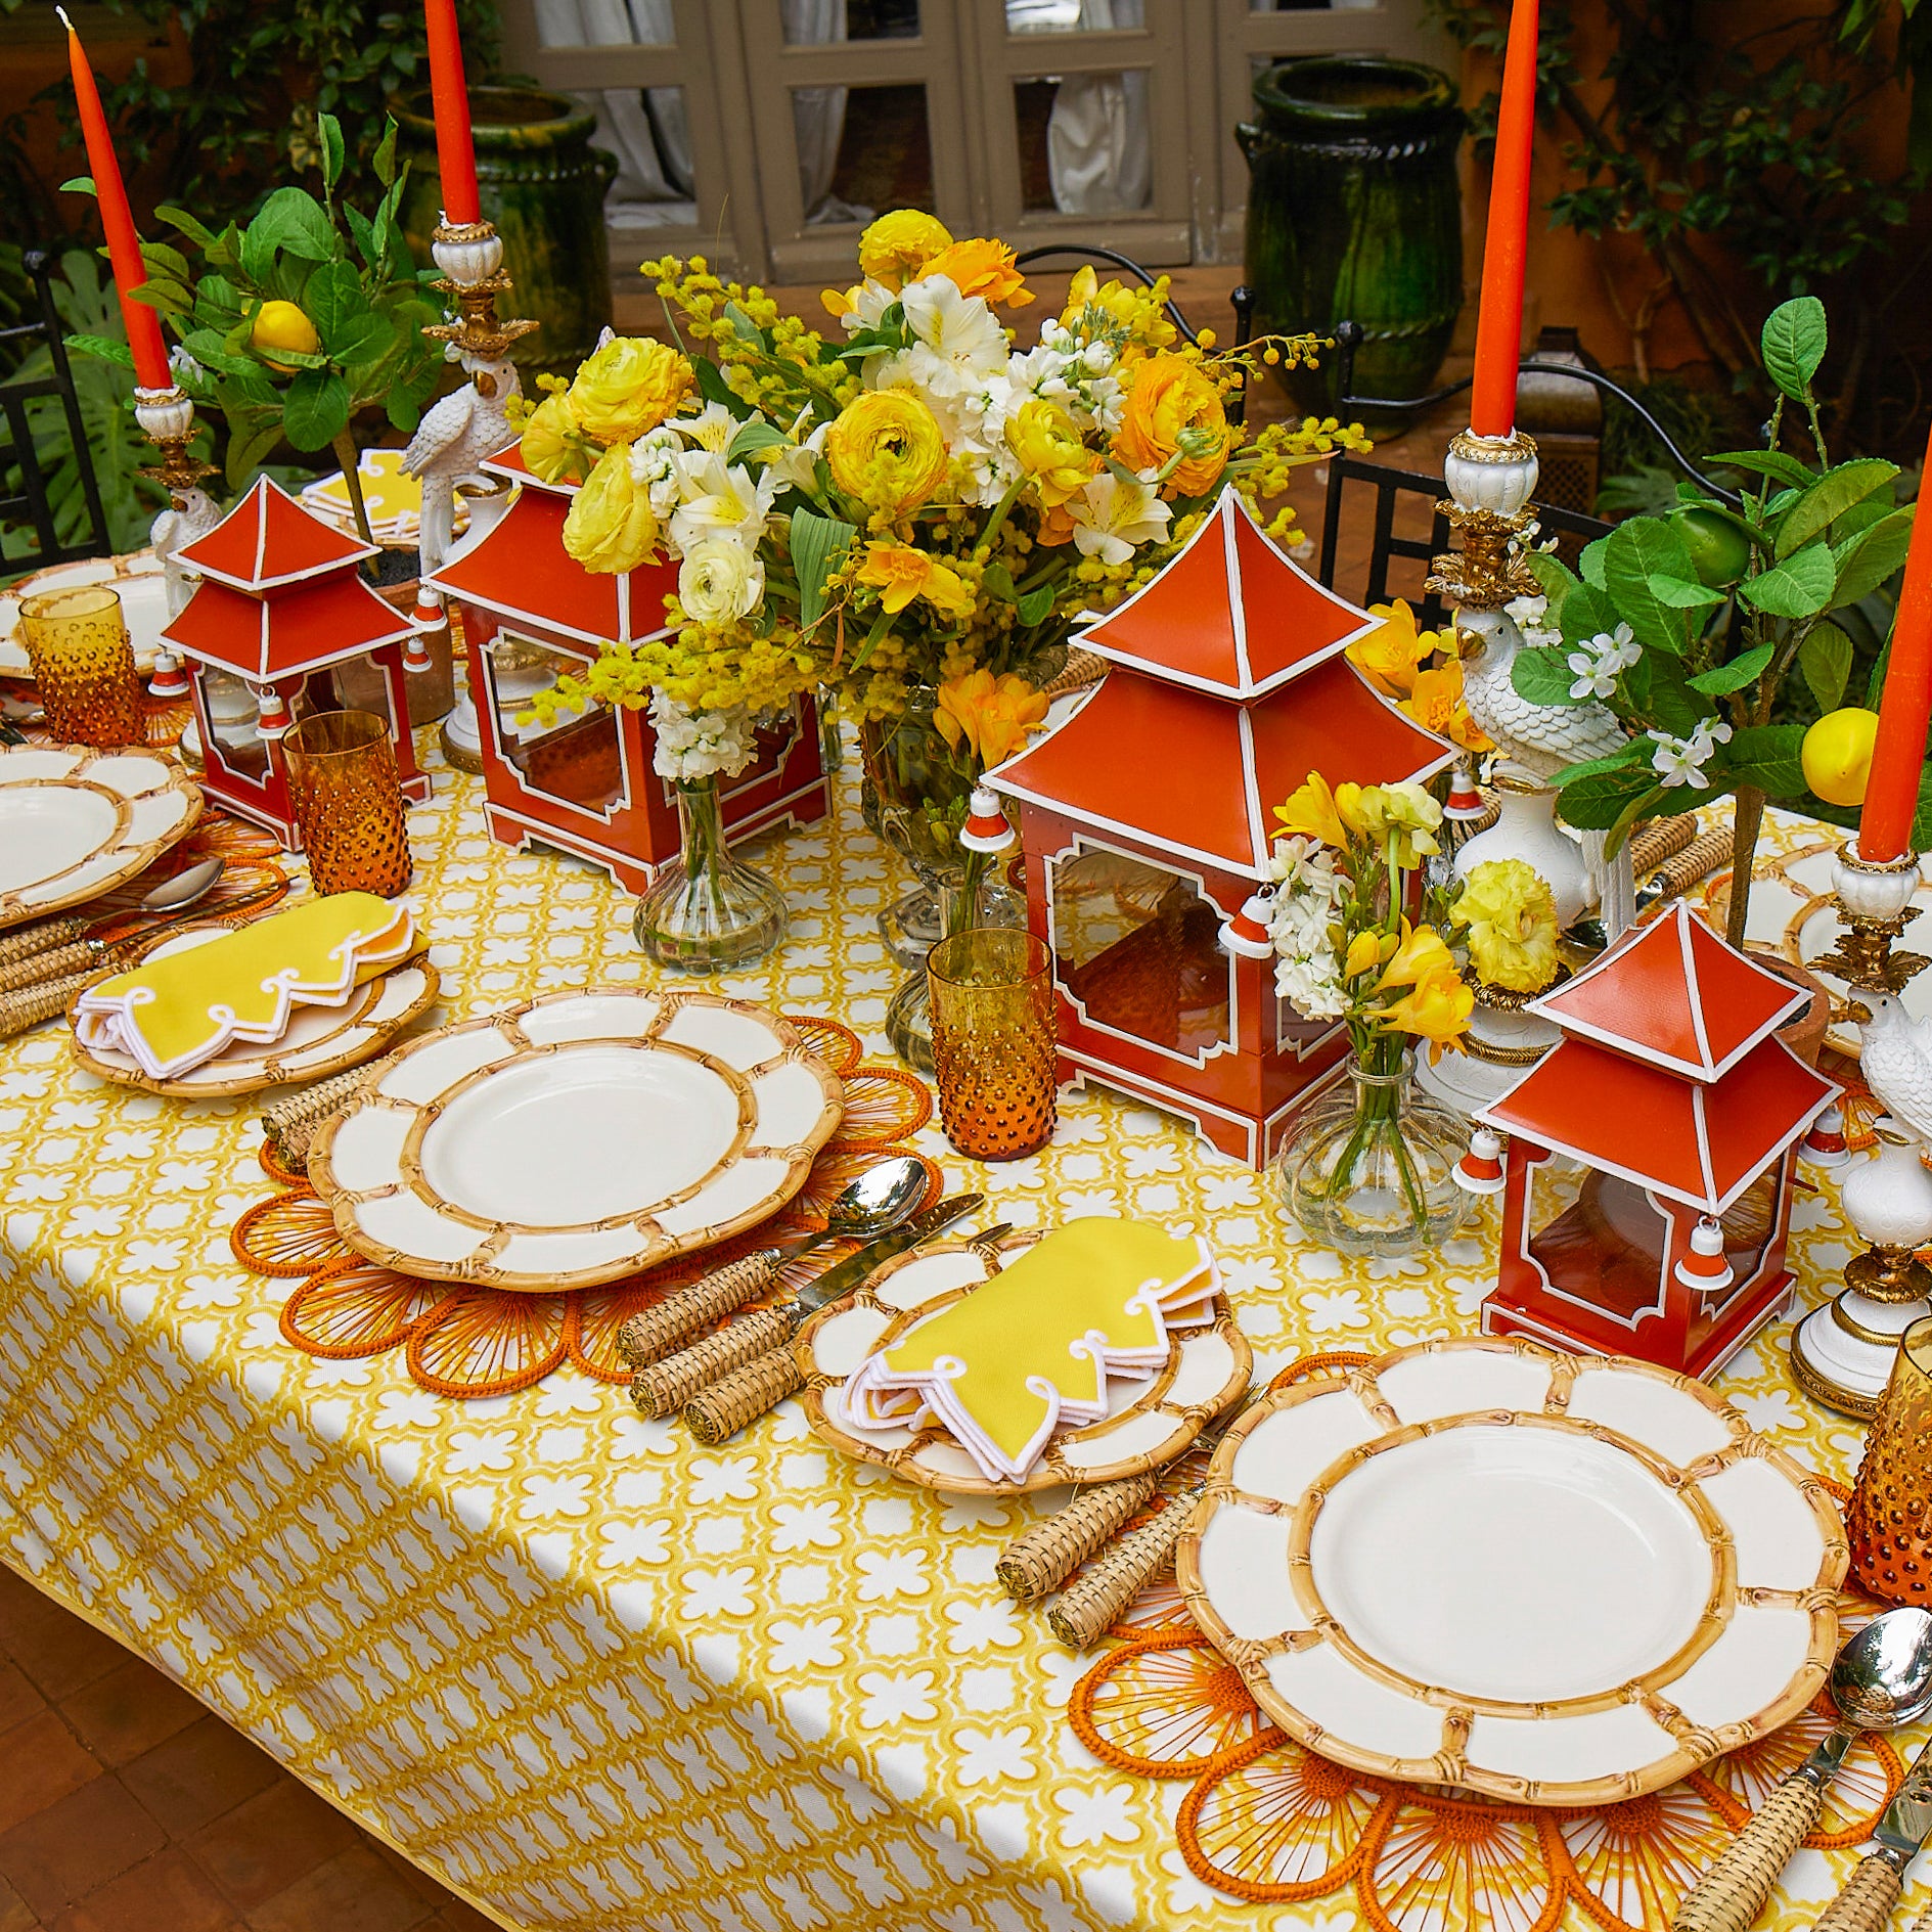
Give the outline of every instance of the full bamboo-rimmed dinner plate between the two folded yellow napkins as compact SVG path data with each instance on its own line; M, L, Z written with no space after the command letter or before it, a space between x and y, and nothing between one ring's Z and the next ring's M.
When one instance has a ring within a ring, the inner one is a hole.
M761 1007L591 987L402 1047L321 1130L309 1180L406 1275L582 1289L777 1213L842 1111Z

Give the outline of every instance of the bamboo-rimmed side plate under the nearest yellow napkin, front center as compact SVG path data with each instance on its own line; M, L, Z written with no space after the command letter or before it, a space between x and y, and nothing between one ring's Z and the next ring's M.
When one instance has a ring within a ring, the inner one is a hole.
M906 1482L954 1495L1026 1495L1068 1482L1117 1482L1165 1468L1188 1451L1204 1428L1248 1387L1254 1350L1235 1325L1227 1296L1215 1296L1215 1321L1177 1329L1167 1366L1146 1383L1121 1383L1119 1406L1099 1422L1055 1430L1024 1482L991 1482L945 1430L867 1430L864 1435L827 1412L827 1397L860 1364L889 1349L922 1321L999 1273L1001 1258L1030 1248L1037 1235L1009 1235L993 1246L933 1242L875 1273L850 1302L813 1316L792 1343L806 1376L806 1420L835 1449L862 1463L881 1463Z

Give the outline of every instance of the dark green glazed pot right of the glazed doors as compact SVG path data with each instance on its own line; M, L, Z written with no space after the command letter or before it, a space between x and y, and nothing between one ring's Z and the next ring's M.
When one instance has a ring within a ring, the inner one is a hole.
M1420 396L1463 307L1463 203L1455 81L1366 54L1285 60L1254 77L1246 274L1256 328L1329 334L1362 325L1358 396ZM1335 357L1289 390L1327 415Z

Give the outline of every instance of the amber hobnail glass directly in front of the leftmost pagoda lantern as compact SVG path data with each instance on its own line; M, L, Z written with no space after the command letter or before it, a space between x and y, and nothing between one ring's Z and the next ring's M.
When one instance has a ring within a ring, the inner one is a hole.
M394 898L410 883L410 827L388 721L317 711L282 738L282 755L315 891Z

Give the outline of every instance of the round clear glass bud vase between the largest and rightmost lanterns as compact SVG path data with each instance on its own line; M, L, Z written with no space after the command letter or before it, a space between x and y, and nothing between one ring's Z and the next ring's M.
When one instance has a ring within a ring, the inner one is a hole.
M1275 1157L1275 1190L1310 1240L1337 1254L1441 1246L1468 1196L1455 1180L1468 1128L1412 1080L1414 1055L1387 1072L1350 1059L1341 1086L1296 1122Z

